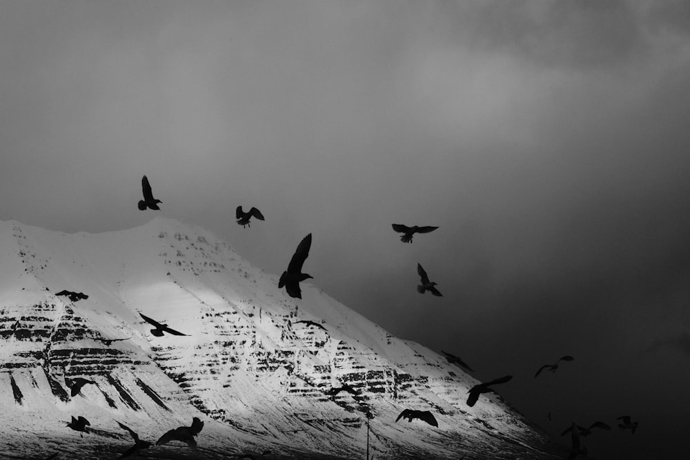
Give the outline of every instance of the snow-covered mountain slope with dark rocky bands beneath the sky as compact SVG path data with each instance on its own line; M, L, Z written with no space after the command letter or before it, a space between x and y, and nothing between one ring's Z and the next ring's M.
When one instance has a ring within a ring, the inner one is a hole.
M174 441L144 457L364 458L366 410L375 459L553 457L497 394L466 406L478 382L444 357L311 284L288 297L201 228L155 218L64 234L3 221L0 261L0 457L116 458L132 444L116 420L156 441L199 417L198 450ZM88 299L57 297L63 289ZM188 337L154 337L139 312ZM75 377L95 384L70 397ZM327 394L343 383L361 395ZM405 408L431 410L439 426L395 423ZM66 428L72 415L92 432Z

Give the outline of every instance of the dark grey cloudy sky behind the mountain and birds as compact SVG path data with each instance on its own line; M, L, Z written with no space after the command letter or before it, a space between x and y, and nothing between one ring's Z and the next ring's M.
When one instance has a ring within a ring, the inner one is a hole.
M552 434L640 421L593 457L687 453L687 1L0 0L0 62L0 219L139 226L147 174Z

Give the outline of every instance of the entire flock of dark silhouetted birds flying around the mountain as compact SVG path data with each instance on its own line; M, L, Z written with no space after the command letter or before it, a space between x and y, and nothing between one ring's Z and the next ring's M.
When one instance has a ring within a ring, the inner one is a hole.
M151 209L151 210L160 210L158 204L162 203L161 200L155 199L152 194L151 186L148 181L148 178L144 176L141 179L141 189L144 194L144 199L139 201L138 207L139 210L146 210L146 209ZM235 217L237 219L237 224L241 225L244 227L250 226L250 219L255 218L260 221L264 221L264 215L262 214L261 211L259 211L257 208L251 208L248 212L244 212L242 210L242 206L237 206L237 210L235 212ZM412 243L413 236L415 233L429 233L433 232L436 230L438 227L433 227L433 226L404 226L400 223L393 223L393 230L395 232L402 233L402 236L400 237L400 240L404 243ZM290 297L294 297L297 299L302 299L302 290L299 287L299 283L302 281L305 281L306 279L311 279L313 278L310 274L302 273L302 267L304 266L304 261L306 261L308 255L309 255L309 250L311 248L311 241L312 241L312 235L307 234L302 241L299 242L299 245L297 245L297 249L295 250L295 253L293 254L293 257L290 259L290 263L288 263L288 268L283 272L283 274L280 276L279 282L278 282L278 288L285 288L287 294ZM417 286L417 292L420 292L420 294L424 294L425 292L431 292L431 294L437 296L437 297L442 297L441 292L436 288L437 283L430 281L428 274L426 273L426 270L422 268L422 265L420 263L417 263L417 274L420 276L420 284ZM88 295L83 294L83 292L72 292L68 290L62 290L60 292L57 292L55 295L59 296L65 296L72 301L72 303L77 302L79 300L83 299L88 299ZM141 318L144 319L147 323L150 323L152 326L154 326L153 329L150 330L151 334L155 337L163 337L165 333L176 335L176 336L186 336L187 334L184 334L182 332L179 332L175 329L170 328L166 323L161 323L159 321L156 321L155 319L152 319L148 316L146 316L143 313L139 313L141 315ZM326 330L322 324L319 324L315 321L309 321L309 320L301 320L301 321L295 321L296 323L304 323L306 326L314 326L317 328L321 328L323 330ZM119 339L106 339L102 337L90 337L91 339L95 339L98 341L103 342L106 346L110 346L110 344L114 341L123 341L123 340L128 340L131 339L131 337L126 337L126 338L119 338ZM442 350L442 353L446 357L446 360L451 363L455 364L459 368L462 368L464 370L467 370L469 372L473 372L473 369L470 368L460 357L455 356L454 354L451 354L449 352L445 352ZM573 361L574 358L571 357L570 355L565 355L563 357L560 357L555 363L553 364L544 364L544 366L540 367L537 372L534 374L534 377L537 378L539 375L542 373L544 370L550 370L551 372L556 372L558 370L559 363L561 361L564 362L569 362ZM495 385L500 385L502 383L506 383L511 381L513 379L512 375L506 375L504 377L499 377L497 379L493 379L491 381L487 381L484 383L479 383L468 391L468 397L467 397L467 406L473 407L475 406L475 403L479 400L479 397L481 394L489 393L489 392L495 392L495 390L492 388ZM68 377L65 377L65 383L70 388L70 393L72 397L76 397L77 394L81 394L81 388L83 386L90 384L90 383L95 383L92 380L85 379L83 377L76 377L75 379L70 379ZM327 394L333 398L335 398L335 395L339 394L339 392L348 392L350 394L353 394L353 396L359 397L361 392L355 390L352 386L350 386L348 383L343 383L341 387L339 388L331 388L327 392ZM371 418L371 413L366 413L368 418ZM550 416L550 414L549 414ZM550 417L549 417L550 418ZM400 415L397 416L397 419L395 421L399 421L400 419L407 419L409 422L413 421L413 419L418 419L421 421L424 421L428 423L431 426L438 426L438 421L435 419L433 413L428 410L413 410L413 409L404 409L402 412L400 412ZM632 421L630 416L622 416L618 417L620 420L620 423L618 423L618 426L621 430L630 430L631 433L634 433L635 430L638 427L638 422L637 421ZM134 445L130 447L126 452L123 452L121 456L119 457L120 459L126 458L126 457L131 457L132 455L135 455L139 450L147 449L150 446L154 445L154 443L150 441L142 441L139 438L139 435L133 431L131 428L126 426L124 423L121 423L117 421L117 424L123 429L126 430L130 436L132 437L134 441ZM79 432L80 436L83 437L83 433L88 432L88 428L90 426L90 422L82 416L79 416L77 418L72 416L72 420L67 423L67 427L71 428L72 430L75 430ZM190 447L196 447L197 442L195 440L195 437L201 432L201 428L204 427L204 422L201 421L199 418L194 417L192 421L191 426L180 426L178 428L175 428L173 430L170 430L163 434L156 442L156 446L161 446L164 445L170 441L181 441L183 443L186 443ZM571 443L572 443L572 448L571 448L571 453L570 456L568 457L569 459L575 459L576 457L580 455L586 455L587 450L582 446L582 441L581 437L587 437L590 434L592 434L594 429L600 429L600 430L611 430L611 427L607 425L606 423L602 421L596 421L592 423L588 427L584 426L579 426L576 423L572 423L572 425L566 430L562 432L562 435L565 435L567 433L571 433ZM247 459L255 459L255 458L260 458L263 457L264 455L270 454L270 451L265 451L259 456L255 454L236 454L235 458L247 458ZM54 459L57 457L57 454L53 454L48 459ZM48 460L46 459L46 460Z

